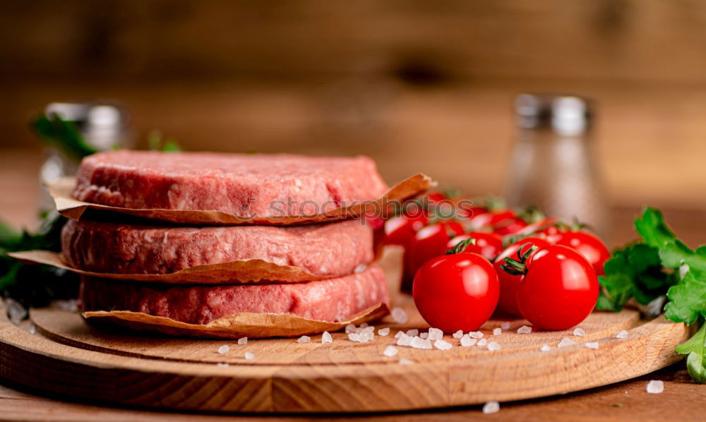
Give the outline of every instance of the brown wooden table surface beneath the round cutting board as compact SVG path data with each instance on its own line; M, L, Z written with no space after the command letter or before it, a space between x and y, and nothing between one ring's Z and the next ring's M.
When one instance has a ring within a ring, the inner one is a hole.
M3 151L0 154L0 219L31 225L37 203L36 152ZM10 176L12 175L12 176ZM611 246L633 238L630 221L634 207L616 207ZM704 212L665 210L667 221L683 239L696 246L706 239ZM663 380L662 394L647 394L649 380ZM465 421L480 417L489 421L702 421L706 415L706 386L690 380L683 362L641 378L584 392L525 402L503 403L497 414L483 415L479 406L395 414L365 414L347 420ZM318 416L318 418L330 418ZM186 421L271 420L271 416L214 415L158 412L116 408L109 404L75 402L69 397L46 397L19 385L0 380L0 418L7 421ZM298 421L312 416L282 415L277 420Z

